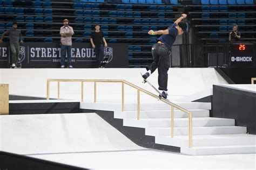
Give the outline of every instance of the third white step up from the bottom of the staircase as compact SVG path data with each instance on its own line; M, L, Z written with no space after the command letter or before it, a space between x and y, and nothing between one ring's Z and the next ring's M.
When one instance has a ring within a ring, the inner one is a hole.
M194 127L193 135L206 134L242 134L246 133L247 128L241 126L210 126ZM188 135L188 128L174 128L174 136ZM146 128L146 135L149 136L170 136L171 128Z

